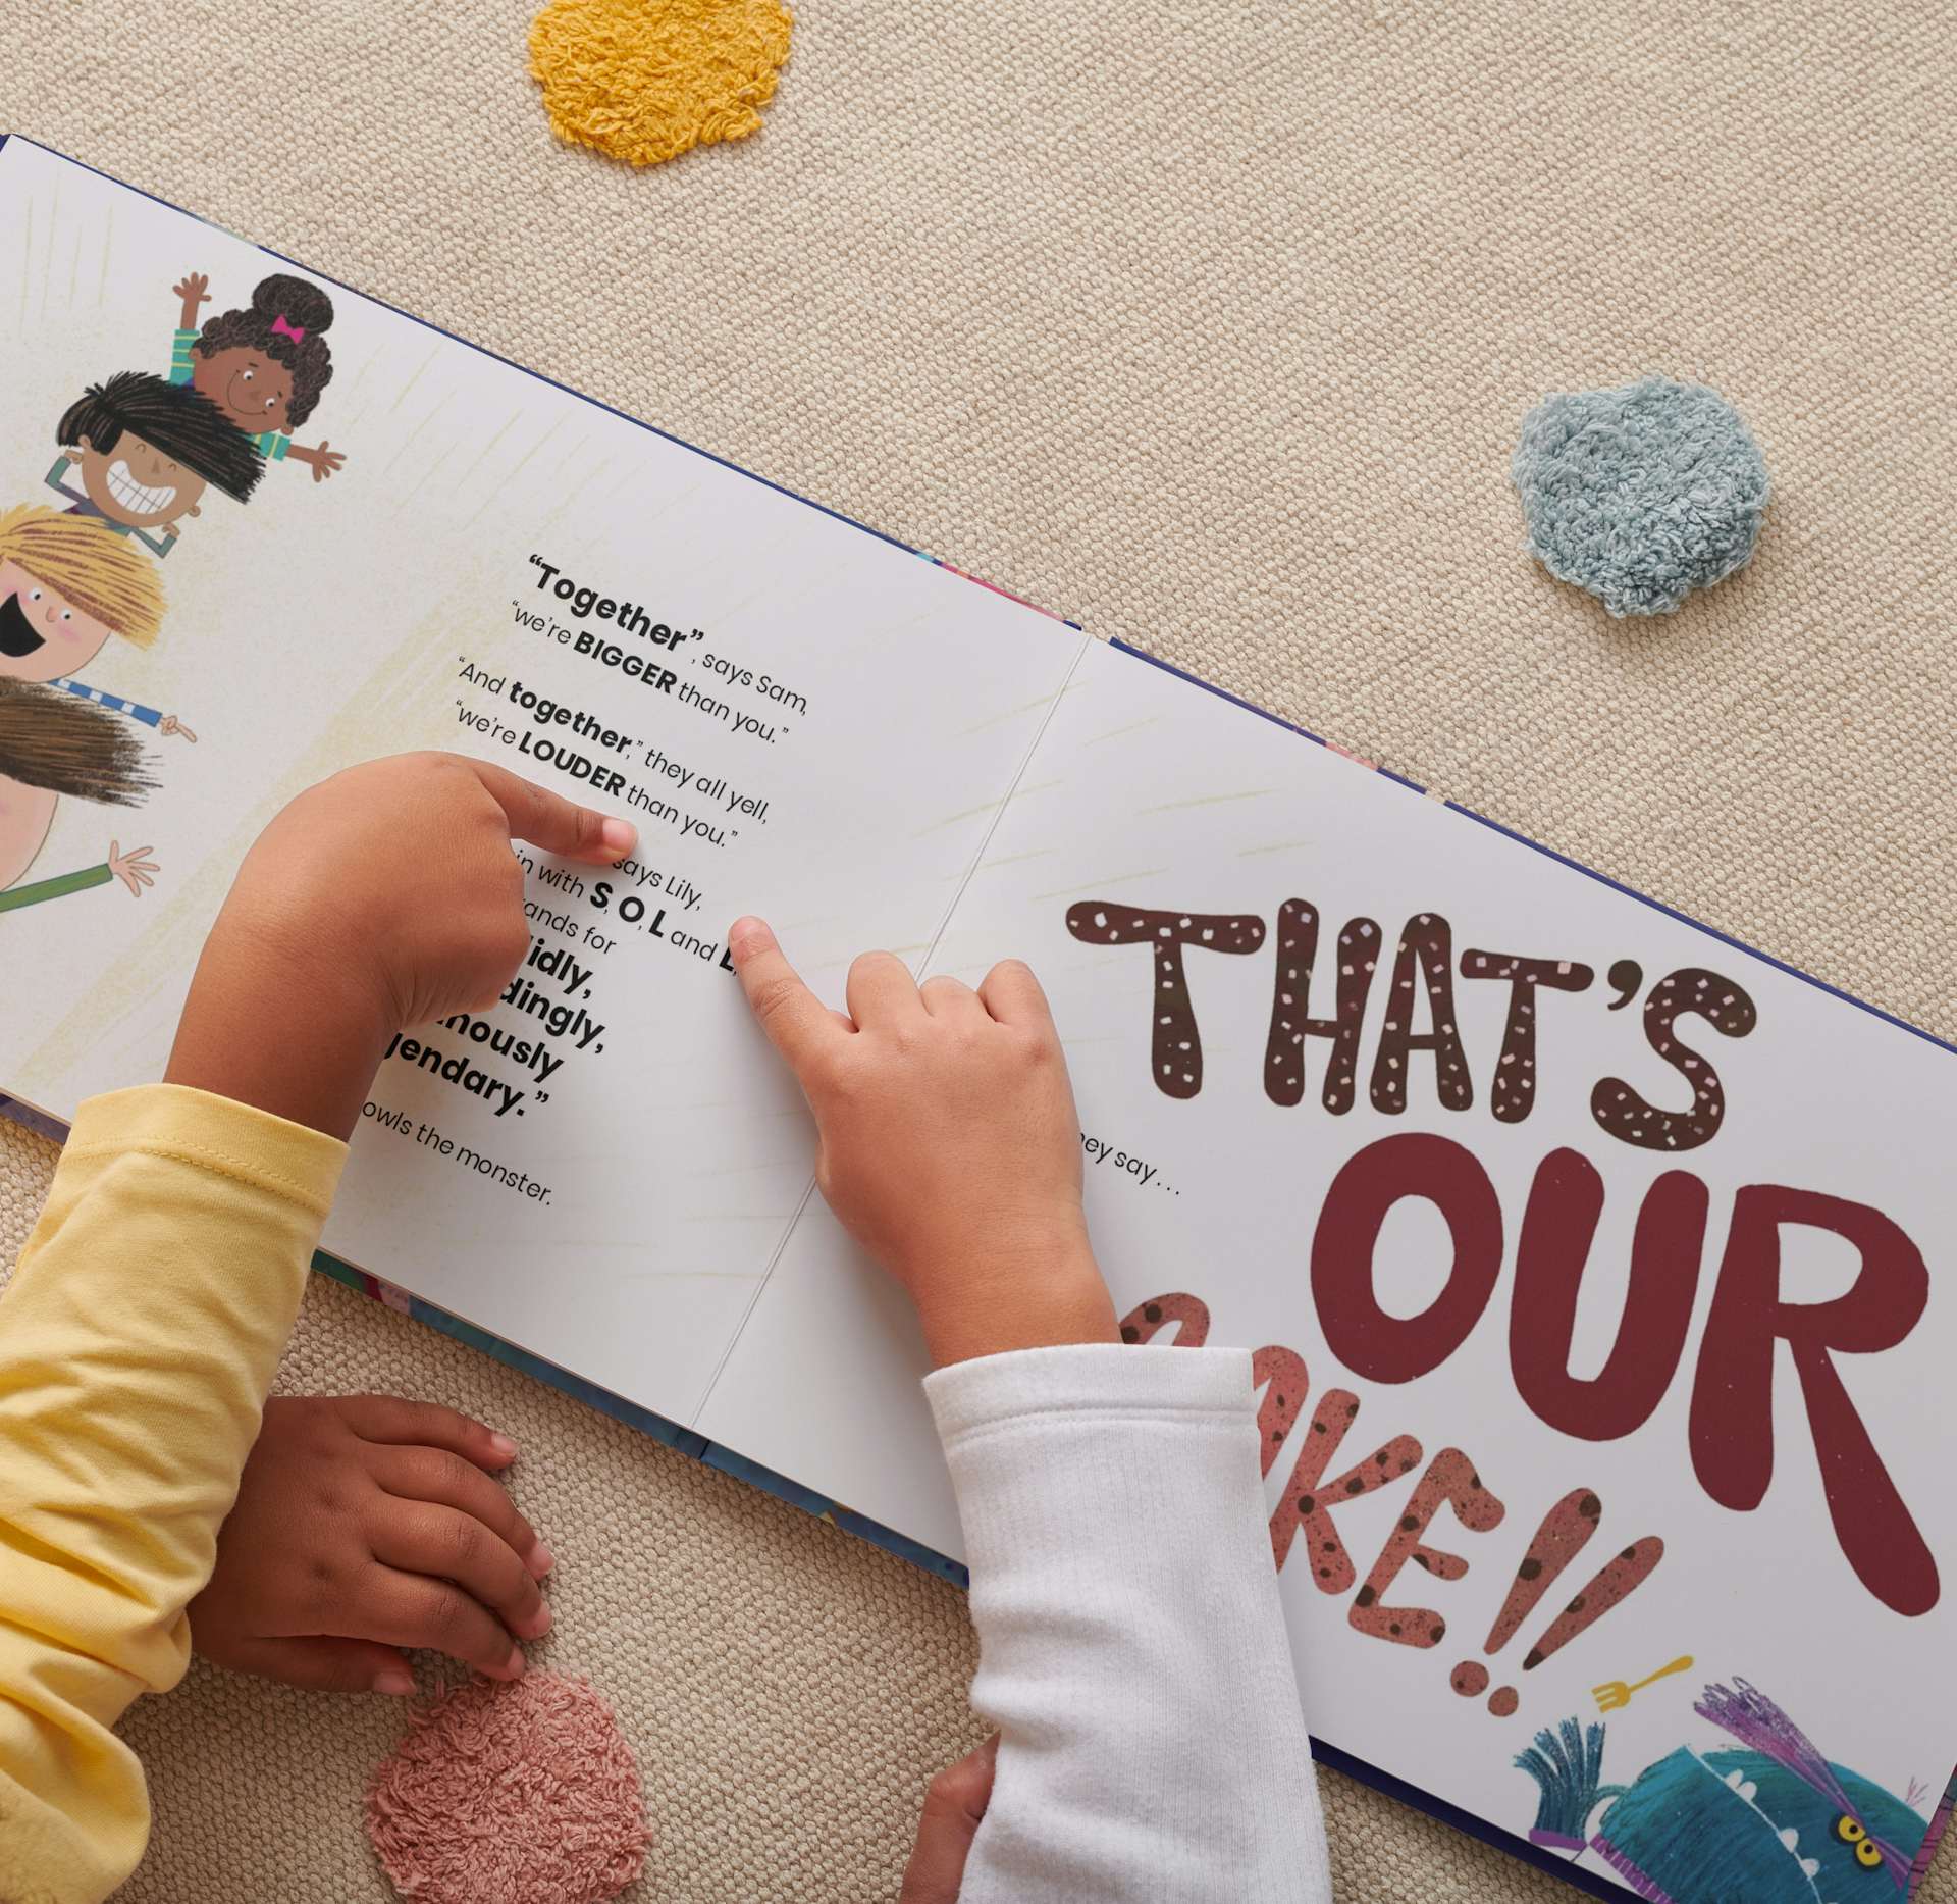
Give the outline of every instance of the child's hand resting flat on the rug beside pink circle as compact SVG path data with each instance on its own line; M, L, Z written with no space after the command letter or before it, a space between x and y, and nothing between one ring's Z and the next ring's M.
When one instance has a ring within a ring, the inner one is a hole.
M489 1479L517 1450L481 1422L387 1395L264 1404L217 1569L190 1602L196 1649L325 1692L413 1692L395 1647L517 1679L550 1632L550 1549Z

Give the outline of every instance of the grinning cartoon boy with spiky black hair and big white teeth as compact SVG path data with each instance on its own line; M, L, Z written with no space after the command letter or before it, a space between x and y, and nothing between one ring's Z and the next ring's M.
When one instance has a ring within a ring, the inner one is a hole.
M55 441L63 452L47 486L70 500L68 513L133 535L159 556L176 547L176 525L198 513L207 486L245 501L264 470L250 437L217 404L143 370L90 384ZM68 470L80 474L80 490L68 488Z

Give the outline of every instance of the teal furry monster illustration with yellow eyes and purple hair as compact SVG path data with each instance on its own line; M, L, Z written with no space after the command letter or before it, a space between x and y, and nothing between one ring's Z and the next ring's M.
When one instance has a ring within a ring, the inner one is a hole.
M1908 1894L1928 1832L1904 1800L1834 1765L1744 1679L1693 1708L1740 1743L1681 1745L1628 1788L1599 1785L1603 1726L1566 1720L1517 1757L1540 1788L1530 1843L1595 1851L1652 1904L1879 1904ZM1609 1810L1589 1832L1589 1816Z

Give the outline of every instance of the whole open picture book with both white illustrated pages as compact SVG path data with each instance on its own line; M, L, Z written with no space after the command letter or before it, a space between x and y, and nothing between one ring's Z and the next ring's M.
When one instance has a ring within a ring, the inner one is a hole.
M955 1561L922 1342L726 927L838 1005L869 948L1024 958L1123 1332L1254 1350L1321 1755L1603 1896L1914 1888L1949 1048L18 137L0 255L18 1115L160 1075L245 848L337 768L616 809L611 872L524 852L503 1001L395 1042L327 1252Z

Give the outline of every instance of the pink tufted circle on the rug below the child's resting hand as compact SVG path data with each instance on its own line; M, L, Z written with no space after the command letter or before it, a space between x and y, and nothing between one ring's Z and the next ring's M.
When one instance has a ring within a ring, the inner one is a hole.
M415 1904L599 1904L646 1863L638 1767L581 1679L470 1681L409 1718L368 1837Z

